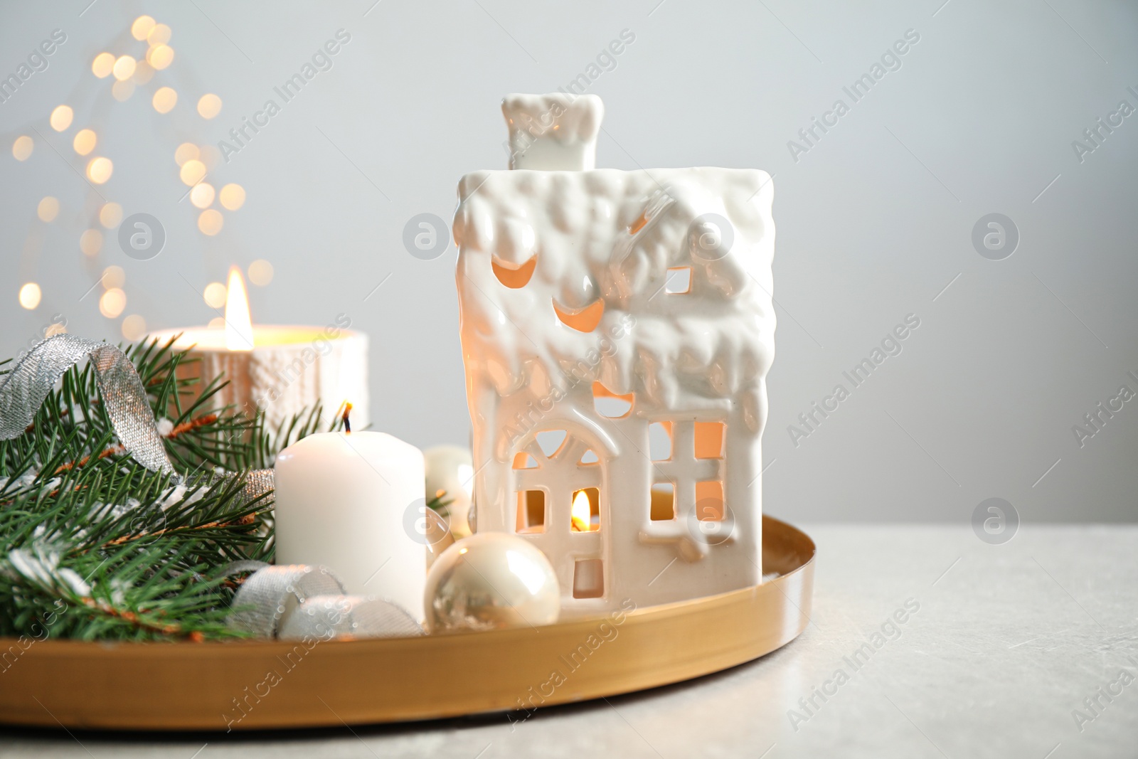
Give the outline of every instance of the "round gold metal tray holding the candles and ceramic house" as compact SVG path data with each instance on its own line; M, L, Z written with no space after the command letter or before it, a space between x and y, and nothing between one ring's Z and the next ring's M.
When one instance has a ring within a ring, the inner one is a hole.
M5 661L0 724L324 727L530 710L667 685L794 640L810 613L814 554L806 534L764 517L764 571L778 577L638 609L619 622L596 617L539 628L320 642L311 650L282 641L36 642ZM15 643L0 638L0 654Z

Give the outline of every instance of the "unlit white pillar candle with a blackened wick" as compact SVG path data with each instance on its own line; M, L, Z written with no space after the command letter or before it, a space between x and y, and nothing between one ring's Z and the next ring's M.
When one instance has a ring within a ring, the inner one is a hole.
M405 526L423 498L419 448L385 432L320 432L281 451L275 472L277 563L323 564L348 593L421 620L426 546Z

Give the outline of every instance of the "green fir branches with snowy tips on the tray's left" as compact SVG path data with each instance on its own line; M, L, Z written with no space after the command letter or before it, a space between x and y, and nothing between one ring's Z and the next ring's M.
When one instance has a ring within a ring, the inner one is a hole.
M195 395L197 380L178 377L193 358L173 340L126 354L155 419L167 420L181 481L123 449L90 364L68 370L24 435L0 440L0 635L231 637L238 584L223 569L272 560L272 494L248 501L245 475L318 431L320 409L267 429L261 413L215 409L223 378ZM0 381L9 371L0 362Z

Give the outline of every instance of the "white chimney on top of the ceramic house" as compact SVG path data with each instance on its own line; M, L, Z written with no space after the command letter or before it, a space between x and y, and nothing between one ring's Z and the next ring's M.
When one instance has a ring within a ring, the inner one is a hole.
M596 168L604 104L595 94L508 94L502 115L510 130L510 168Z

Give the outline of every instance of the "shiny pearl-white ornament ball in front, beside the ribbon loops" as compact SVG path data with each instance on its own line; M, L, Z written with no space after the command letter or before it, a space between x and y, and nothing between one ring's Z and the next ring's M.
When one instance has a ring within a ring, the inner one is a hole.
M558 620L561 588L553 564L528 541L481 533L435 561L423 608L432 633L536 627Z

